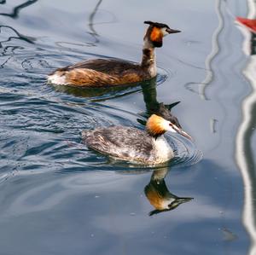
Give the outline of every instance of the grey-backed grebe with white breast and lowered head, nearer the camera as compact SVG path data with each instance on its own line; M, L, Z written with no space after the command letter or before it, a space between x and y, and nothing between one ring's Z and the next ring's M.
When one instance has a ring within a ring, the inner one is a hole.
M83 130L83 142L102 154L137 164L156 165L174 157L171 146L163 136L166 131L177 132L191 139L186 132L156 114L150 116L146 130L110 126Z

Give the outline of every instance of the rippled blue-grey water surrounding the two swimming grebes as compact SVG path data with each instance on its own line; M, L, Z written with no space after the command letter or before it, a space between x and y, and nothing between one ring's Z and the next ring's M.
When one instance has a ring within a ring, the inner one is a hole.
M0 1L0 254L256 254L255 35L234 22L255 14L253 0ZM157 49L156 80L45 84L83 59L140 61L143 20L182 30ZM148 106L175 101L195 144L169 137L169 165L120 163L81 143L96 126L143 129ZM194 200L148 216L148 191Z

